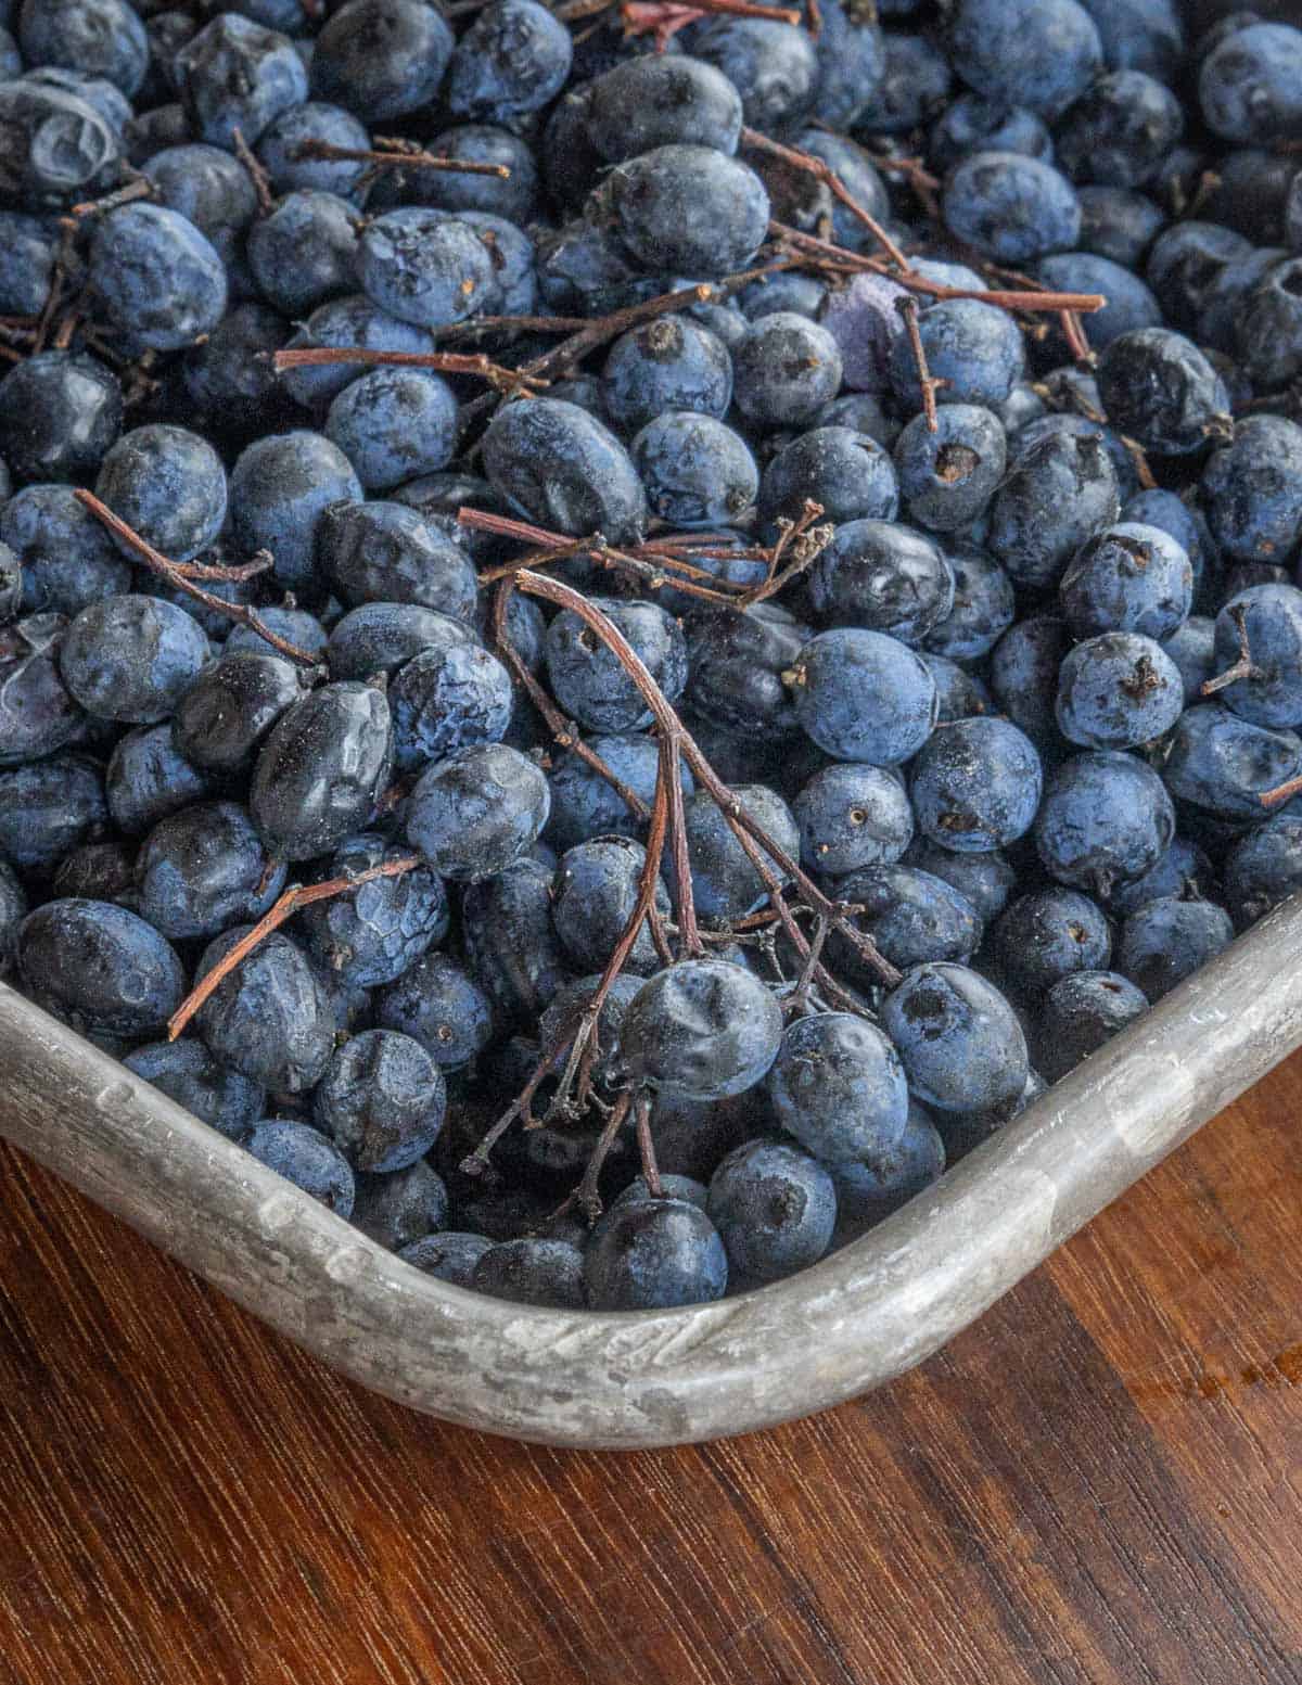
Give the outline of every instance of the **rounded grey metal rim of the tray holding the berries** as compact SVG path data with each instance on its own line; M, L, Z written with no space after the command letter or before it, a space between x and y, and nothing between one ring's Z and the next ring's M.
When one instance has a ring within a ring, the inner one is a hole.
M401 1264L0 986L0 1136L344 1375L470 1427L638 1447L911 1368L1302 1043L1302 898L862 1240L682 1311L505 1304Z

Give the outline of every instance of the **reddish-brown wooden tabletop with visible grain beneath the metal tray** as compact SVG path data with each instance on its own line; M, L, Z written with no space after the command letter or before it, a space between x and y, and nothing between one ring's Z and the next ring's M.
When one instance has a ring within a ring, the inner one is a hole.
M551 1452L0 1154L3 1685L1299 1685L1302 1055L891 1388Z

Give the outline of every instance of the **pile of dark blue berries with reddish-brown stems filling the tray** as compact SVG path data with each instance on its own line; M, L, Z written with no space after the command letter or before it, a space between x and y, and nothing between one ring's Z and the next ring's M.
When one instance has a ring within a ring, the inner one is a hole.
M803 1269L1302 885L1294 0L0 0L0 972L445 1281Z

